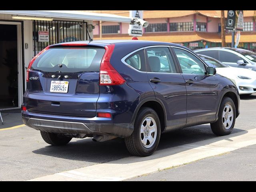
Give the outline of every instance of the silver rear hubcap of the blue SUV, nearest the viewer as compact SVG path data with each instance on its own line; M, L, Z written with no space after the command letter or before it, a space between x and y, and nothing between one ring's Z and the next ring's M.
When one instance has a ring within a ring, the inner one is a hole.
M140 126L140 141L146 148L152 147L156 141L156 121L152 117L146 117Z

